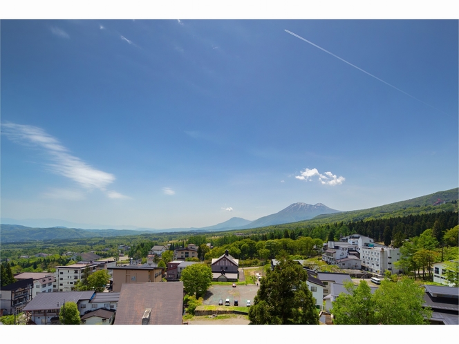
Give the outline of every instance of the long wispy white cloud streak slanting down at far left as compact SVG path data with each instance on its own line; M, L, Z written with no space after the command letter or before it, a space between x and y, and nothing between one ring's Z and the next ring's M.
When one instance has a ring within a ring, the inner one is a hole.
M87 190L100 189L105 192L107 185L115 181L115 175L94 169L79 157L71 155L59 140L37 126L3 123L1 128L2 134L13 142L43 151L50 161L46 164L50 171L77 182Z

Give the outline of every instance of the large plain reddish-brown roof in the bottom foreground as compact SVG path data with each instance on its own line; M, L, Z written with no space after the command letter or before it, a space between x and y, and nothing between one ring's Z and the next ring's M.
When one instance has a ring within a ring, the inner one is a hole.
M149 325L181 325L183 283L124 283L115 325L141 325L147 308L151 308Z

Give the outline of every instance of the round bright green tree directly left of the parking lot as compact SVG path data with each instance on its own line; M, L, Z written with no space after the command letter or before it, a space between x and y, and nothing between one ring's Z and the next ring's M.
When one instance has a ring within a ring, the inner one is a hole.
M200 263L189 265L182 270L180 280L187 294L196 295L196 298L199 298L204 296L212 283L212 269Z

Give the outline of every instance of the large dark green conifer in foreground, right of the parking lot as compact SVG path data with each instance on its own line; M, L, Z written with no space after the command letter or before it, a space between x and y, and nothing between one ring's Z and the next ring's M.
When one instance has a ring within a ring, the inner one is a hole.
M315 307L303 267L288 256L280 256L274 271L261 280L249 319L255 325L318 325Z

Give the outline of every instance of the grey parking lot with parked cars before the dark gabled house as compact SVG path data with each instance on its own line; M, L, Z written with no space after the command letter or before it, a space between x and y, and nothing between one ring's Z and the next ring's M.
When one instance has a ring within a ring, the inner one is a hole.
M258 292L259 287L256 285L211 285L204 296L203 305L218 305L218 300L222 299L223 303L229 298L231 305L234 305L234 300L239 301L239 306L245 307L247 300L254 303L254 296Z

